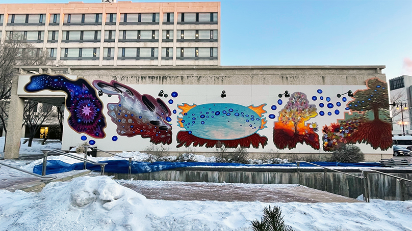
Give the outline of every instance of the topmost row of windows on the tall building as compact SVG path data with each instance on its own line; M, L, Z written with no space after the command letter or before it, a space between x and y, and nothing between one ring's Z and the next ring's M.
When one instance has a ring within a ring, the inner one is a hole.
M11 14L8 25L44 25L46 14ZM0 23L3 24L4 15L0 14ZM102 14L65 14L64 25L100 25ZM116 24L117 14L106 14L106 24ZM163 23L171 24L174 13L163 13ZM217 13L178 13L177 23L217 23ZM49 25L59 25L60 14L50 14ZM159 24L159 13L121 13L120 24Z

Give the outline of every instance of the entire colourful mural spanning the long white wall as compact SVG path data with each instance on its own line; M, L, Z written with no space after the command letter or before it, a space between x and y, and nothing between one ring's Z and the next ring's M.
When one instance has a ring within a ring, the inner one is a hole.
M388 86L378 78L368 79L366 88L290 86L288 90L305 90L294 91L290 96L286 92L276 95L282 89L279 87L269 95L259 92L263 95L257 100L209 97L214 87L203 95L201 85L144 85L139 91L134 87L137 86L115 80L94 80L90 84L83 78L40 74L30 77L24 91L65 92L69 112L65 118L68 127L77 133L71 136L82 140L79 143L88 141L99 147L110 146L114 141L132 149L132 144L137 143L138 150L151 144L170 145L167 149L202 147L206 151L224 146L307 153L318 152L315 150L321 147L322 151L332 152L346 143L363 143L370 150L392 147ZM336 95L344 89L346 93ZM177 91L183 91L183 96ZM287 98L282 99L283 95ZM273 99L271 106L259 103ZM267 128L268 120L273 121L269 123L273 127ZM273 143L268 144L270 136Z

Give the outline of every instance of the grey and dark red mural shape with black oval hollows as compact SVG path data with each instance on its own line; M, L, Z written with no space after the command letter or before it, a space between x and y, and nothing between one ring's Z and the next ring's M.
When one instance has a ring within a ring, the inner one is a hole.
M102 93L118 95L119 102L108 103L108 114L117 125L121 136L140 135L150 138L150 142L170 145L172 142L171 111L160 99L150 95L140 95L137 91L115 80L110 83L94 80L93 86ZM113 141L117 136L112 137Z

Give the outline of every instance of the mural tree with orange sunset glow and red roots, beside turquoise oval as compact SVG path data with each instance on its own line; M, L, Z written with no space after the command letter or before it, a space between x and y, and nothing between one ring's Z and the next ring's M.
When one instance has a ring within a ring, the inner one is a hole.
M273 142L278 149L293 149L297 143L305 142L314 149L319 149L319 135L313 124L305 121L316 117L316 106L309 104L306 95L295 92L289 98L284 109L279 112L279 120L273 128Z

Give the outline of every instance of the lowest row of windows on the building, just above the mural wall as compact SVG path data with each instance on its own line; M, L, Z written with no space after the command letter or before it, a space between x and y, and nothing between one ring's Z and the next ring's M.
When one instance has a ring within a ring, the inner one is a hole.
M180 52L180 56L177 58L208 58L217 59L216 47L198 47L198 48L177 48ZM57 48L47 48L50 57L56 57ZM41 52L40 48L36 52ZM100 48L64 48L60 54L62 59L98 59L100 56ZM118 59L131 59L131 58L147 58L157 59L159 56L159 48L157 47L123 47L118 49ZM114 57L114 48L104 48L105 59L112 59ZM173 48L162 48L162 57L173 57Z

